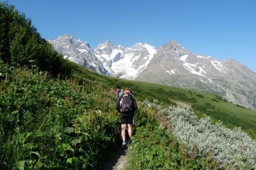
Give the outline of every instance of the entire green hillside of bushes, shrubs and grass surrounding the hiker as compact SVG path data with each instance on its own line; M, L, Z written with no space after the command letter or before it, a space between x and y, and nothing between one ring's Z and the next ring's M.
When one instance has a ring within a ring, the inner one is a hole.
M117 86L139 108L124 169L256 169L255 110L217 92L98 72L1 2L0 169L104 169L121 143Z

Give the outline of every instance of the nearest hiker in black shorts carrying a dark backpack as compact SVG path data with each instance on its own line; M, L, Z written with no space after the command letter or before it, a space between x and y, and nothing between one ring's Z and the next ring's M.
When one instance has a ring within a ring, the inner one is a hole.
M128 134L130 139L132 139L133 135L133 117L134 113L137 110L137 103L133 94L131 94L131 90L129 88L125 88L124 92L121 96L119 96L116 109L121 113L121 136L123 139L122 147L126 145L125 141L125 131L128 127Z

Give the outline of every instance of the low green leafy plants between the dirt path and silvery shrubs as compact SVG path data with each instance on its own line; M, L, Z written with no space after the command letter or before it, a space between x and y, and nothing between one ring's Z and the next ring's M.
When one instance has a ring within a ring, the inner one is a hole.
M136 114L136 135L128 150L126 169L216 169L210 155L189 154L185 145L159 124L155 109L144 104L141 107Z

